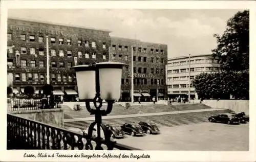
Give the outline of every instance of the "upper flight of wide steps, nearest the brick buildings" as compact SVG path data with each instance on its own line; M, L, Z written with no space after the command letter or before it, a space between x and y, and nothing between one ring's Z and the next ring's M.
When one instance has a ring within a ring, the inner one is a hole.
M187 106L186 106L187 105ZM176 107L177 106L177 107ZM93 108L94 106L92 106ZM63 105L64 119L72 118L87 118L92 115L87 111L85 106L81 106L81 110L75 111L70 109L67 105ZM105 109L106 105L102 105L102 109ZM203 104L184 104L184 105L164 105L164 104L148 104L148 105L133 105L129 108L123 107L121 104L114 104L112 111L108 116L114 115L126 115L126 114L138 114L138 113L157 113L157 112L170 112L170 111L182 111L182 110L198 110L208 109L209 106Z

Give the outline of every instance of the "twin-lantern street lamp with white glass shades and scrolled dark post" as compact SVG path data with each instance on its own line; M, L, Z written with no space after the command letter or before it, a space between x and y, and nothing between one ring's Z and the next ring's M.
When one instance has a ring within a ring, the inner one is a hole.
M76 71L79 100L86 102L87 110L95 115L95 122L89 126L88 135L93 138L93 129L97 125L96 150L103 150L100 128L103 130L106 146L109 150L113 149L115 142L111 141L110 131L102 124L102 116L112 111L114 101L120 97L122 67L125 65L119 62L101 62L72 67ZM100 109L102 100L108 103L105 110ZM91 102L96 109L91 108ZM87 141L86 148L93 149L90 140Z

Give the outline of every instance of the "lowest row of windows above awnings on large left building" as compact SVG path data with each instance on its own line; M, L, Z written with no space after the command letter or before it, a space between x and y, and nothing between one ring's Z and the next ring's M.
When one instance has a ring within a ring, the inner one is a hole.
M20 78L21 76L21 78ZM40 78L39 78L40 77ZM22 81L22 82L44 82L46 81L46 74L38 74L37 73L21 73L21 74L15 74L15 81ZM51 74L51 81L52 82L73 82L76 81L75 75L65 75L65 74Z

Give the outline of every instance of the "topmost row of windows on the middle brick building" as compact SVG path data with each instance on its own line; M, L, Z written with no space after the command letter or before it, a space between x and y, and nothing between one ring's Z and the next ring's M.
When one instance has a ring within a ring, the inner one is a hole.
M117 48L117 45L113 44L112 45L112 50L118 50L118 51L128 51L128 46L124 45L118 45L118 48ZM158 54L159 53L159 49L150 49L148 50L147 48L141 48L141 47L133 47L133 51L136 52L140 52L140 53L148 53L150 52L151 54ZM160 54L164 54L163 50L160 50Z

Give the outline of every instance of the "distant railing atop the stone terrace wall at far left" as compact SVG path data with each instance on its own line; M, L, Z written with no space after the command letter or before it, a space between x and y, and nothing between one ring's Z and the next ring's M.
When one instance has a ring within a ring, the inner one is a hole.
M61 102L42 100L42 99L7 99L7 111L17 110L38 110L49 108L61 108Z

